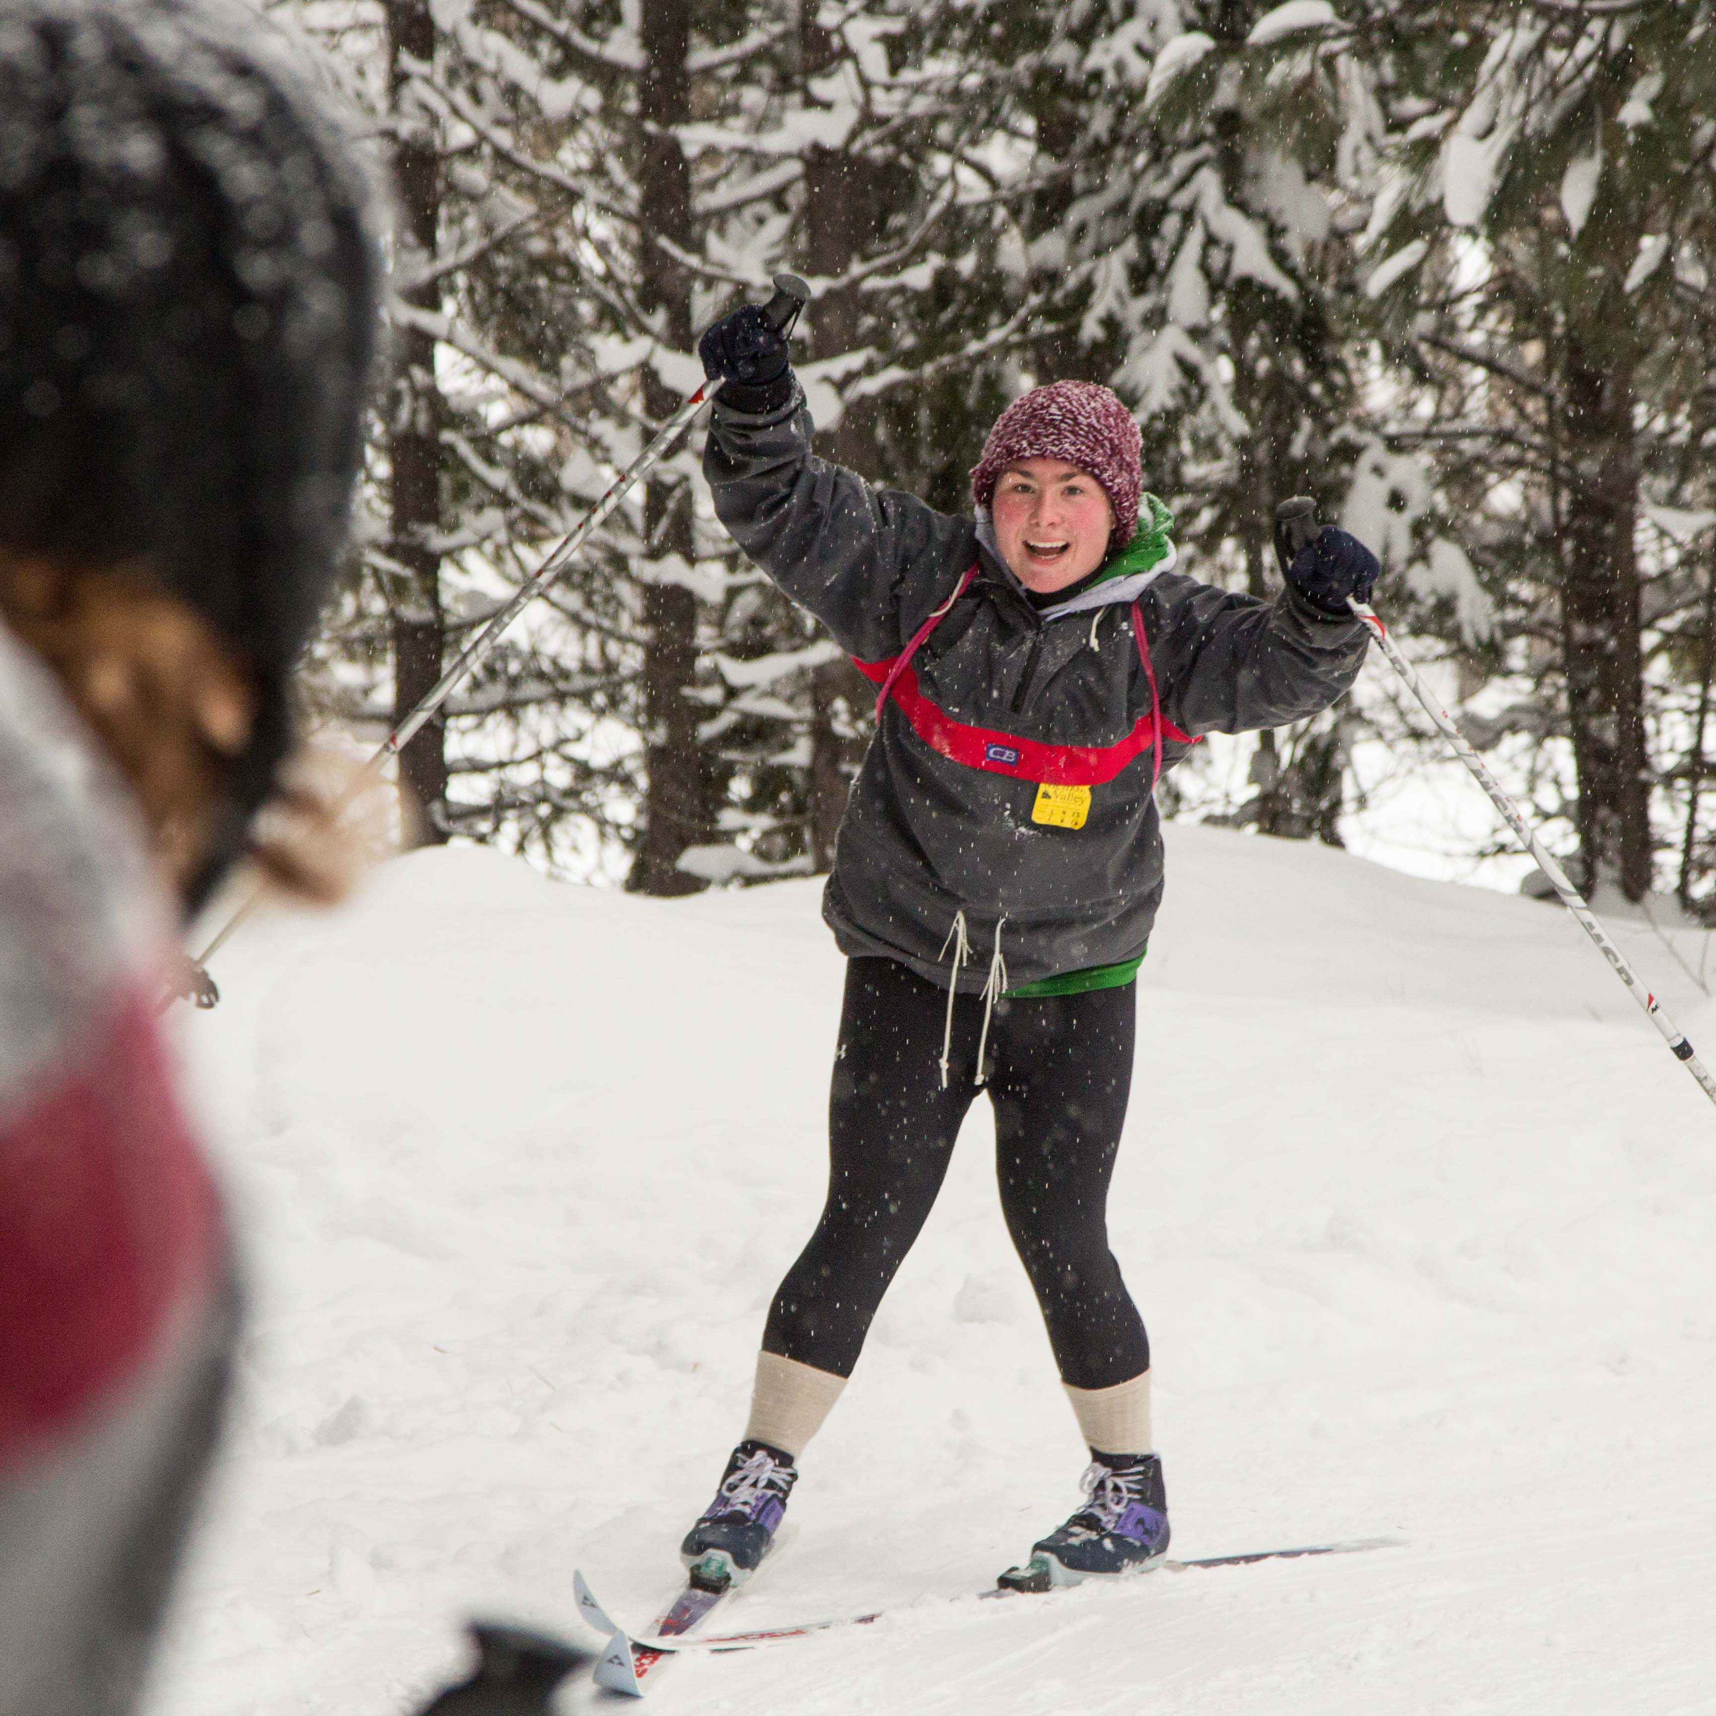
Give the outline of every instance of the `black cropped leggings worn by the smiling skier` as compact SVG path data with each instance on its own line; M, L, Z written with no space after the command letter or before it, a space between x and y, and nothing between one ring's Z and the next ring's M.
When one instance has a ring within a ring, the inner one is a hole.
M764 1347L849 1376L887 1284L947 1174L983 999L892 959L853 959L829 1097L829 1199L786 1272ZM1048 1325L1062 1381L1109 1388L1150 1368L1150 1342L1109 1251L1107 1201L1133 1081L1134 985L1002 1000L988 1028L1000 1208Z

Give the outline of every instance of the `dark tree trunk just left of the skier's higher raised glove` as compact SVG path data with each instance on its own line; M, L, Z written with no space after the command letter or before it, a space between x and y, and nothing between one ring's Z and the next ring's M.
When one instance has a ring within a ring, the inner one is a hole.
M661 340L692 348L692 297L685 268L656 240L692 249L692 173L674 125L692 117L690 0L642 0L638 76L642 163L638 172L638 302ZM668 419L678 395L654 371L644 376L652 424ZM695 554L692 496L674 474L652 477L644 498L647 553ZM714 836L710 789L697 743L698 705L685 693L697 676L697 597L678 583L650 583L644 595L644 788L642 827L626 887L638 894L695 894L704 884L680 868L688 846Z

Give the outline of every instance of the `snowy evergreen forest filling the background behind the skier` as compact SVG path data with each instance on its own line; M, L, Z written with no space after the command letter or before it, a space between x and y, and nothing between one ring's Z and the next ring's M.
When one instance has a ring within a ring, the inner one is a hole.
M379 738L781 268L820 446L966 505L1026 386L1114 386L1186 570L1275 503L1575 879L1716 921L1716 0L278 0L395 194L357 549L302 674ZM700 436L407 746L408 841L683 894L827 868L865 683L736 554ZM1514 880L1380 674L1163 810Z

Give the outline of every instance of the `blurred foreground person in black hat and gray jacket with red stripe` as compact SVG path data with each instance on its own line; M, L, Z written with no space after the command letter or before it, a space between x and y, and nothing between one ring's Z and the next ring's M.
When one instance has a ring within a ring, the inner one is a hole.
M240 855L331 885L312 807L252 822L357 470L369 206L254 14L0 0L0 1716L136 1706L221 1417L154 1014Z

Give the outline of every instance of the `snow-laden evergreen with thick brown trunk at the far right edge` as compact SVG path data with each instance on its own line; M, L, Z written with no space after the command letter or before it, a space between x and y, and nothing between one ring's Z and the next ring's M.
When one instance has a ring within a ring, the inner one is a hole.
M1368 292L1405 381L1397 444L1435 451L1498 575L1517 695L1486 736L1577 831L1587 884L1640 897L1678 848L1702 892L1707 836L1665 784L1706 770L1716 19L1568 0L1433 21L1349 19L1393 120Z

